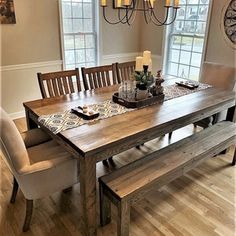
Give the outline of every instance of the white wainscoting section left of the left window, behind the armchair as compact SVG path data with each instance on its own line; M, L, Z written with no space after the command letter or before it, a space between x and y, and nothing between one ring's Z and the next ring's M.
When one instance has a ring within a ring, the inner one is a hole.
M1 106L13 119L24 116L23 102L41 98L37 73L61 69L61 60L2 66Z

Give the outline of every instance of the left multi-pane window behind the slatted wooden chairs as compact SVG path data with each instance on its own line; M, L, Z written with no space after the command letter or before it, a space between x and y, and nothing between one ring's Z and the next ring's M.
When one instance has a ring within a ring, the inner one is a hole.
M65 69L97 64L97 14L94 0L61 0Z

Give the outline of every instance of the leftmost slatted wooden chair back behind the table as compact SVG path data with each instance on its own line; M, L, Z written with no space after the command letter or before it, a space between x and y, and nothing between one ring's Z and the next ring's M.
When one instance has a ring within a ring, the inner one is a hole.
M56 97L81 91L79 69L37 73L43 98ZM73 81L75 78L75 82Z

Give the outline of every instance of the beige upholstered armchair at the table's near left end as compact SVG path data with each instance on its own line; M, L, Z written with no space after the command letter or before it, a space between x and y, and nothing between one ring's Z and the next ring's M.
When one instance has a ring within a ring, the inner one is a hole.
M14 176L11 202L18 185L26 198L23 231L29 229L33 200L61 191L78 182L77 160L40 129L23 133L0 107L0 146Z

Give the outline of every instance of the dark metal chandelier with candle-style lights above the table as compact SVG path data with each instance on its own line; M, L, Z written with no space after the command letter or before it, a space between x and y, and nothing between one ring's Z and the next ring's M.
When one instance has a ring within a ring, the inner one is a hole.
M143 13L144 20L147 24L153 23L157 26L172 24L179 9L179 0L166 0L165 17L163 20L158 19L155 13L156 0L113 0L113 8L117 10L117 19L109 20L107 18L106 9L108 7L107 0L101 0L101 7L103 8L103 17L109 24L128 24L131 25L136 17L137 12ZM171 4L173 3L173 5ZM173 12L172 19L169 19L170 12Z

